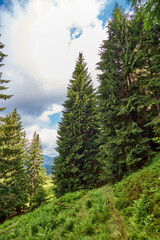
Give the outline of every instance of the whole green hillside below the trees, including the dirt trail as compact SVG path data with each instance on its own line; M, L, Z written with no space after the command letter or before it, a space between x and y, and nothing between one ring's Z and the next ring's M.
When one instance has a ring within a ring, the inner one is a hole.
M6 221L2 239L160 239L160 155L114 186L53 197Z

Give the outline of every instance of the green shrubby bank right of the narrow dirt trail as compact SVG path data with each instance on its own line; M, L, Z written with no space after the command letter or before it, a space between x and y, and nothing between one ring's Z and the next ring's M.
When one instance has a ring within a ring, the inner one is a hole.
M160 239L160 154L150 166L114 186L116 207L127 219L129 239Z

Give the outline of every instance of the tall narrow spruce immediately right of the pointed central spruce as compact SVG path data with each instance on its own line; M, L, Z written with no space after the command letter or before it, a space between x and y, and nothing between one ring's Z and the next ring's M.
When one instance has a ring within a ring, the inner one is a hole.
M102 134L100 135L100 160L104 164L104 180L119 178L125 169L123 152L118 144L116 131L121 127L118 116L121 95L126 86L124 79L124 54L126 51L126 16L115 6L108 23L108 39L103 41L98 63L100 86L99 109ZM120 159L121 158L121 159Z

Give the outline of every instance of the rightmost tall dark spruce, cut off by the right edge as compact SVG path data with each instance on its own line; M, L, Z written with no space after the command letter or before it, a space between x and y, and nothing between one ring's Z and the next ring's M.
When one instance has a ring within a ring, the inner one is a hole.
M160 143L160 26L152 23L149 29L145 29L144 16L137 9L133 17L125 67L132 79L132 95L134 99L136 95L137 99L136 121L154 152L158 150ZM148 151L147 158L150 153Z

